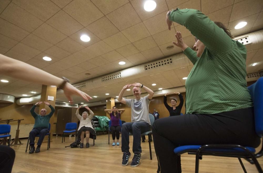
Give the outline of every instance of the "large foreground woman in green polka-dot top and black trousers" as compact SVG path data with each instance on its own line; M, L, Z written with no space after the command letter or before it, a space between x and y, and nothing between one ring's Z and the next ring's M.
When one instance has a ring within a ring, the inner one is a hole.
M179 145L239 144L258 147L253 103L246 88L246 48L231 39L221 23L214 23L195 9L175 9L166 16L184 25L196 37L193 51L177 42L194 64L185 82L186 114L160 118L153 124L158 159L157 172L181 172L181 159L173 152ZM169 130L168 130L169 129Z

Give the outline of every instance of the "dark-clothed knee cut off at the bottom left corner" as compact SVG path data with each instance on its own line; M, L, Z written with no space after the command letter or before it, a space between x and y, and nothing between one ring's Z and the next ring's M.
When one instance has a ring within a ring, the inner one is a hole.
M6 145L0 145L0 172L12 172L16 153Z

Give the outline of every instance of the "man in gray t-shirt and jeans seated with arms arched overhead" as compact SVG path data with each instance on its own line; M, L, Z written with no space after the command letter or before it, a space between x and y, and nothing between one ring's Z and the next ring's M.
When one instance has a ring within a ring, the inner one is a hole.
M133 87L133 95L135 99L123 99L123 93L126 89ZM141 88L148 95L141 97ZM122 125L122 166L128 165L131 153L129 152L129 132L133 133L133 153L134 157L131 161L131 167L139 165L141 158L141 133L150 131L149 104L153 98L153 91L140 83L125 85L120 91L118 101L131 107L131 122Z

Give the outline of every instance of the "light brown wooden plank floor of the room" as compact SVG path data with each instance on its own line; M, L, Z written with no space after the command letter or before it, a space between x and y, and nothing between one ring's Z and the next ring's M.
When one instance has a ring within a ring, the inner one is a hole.
M147 137L146 137L147 138ZM141 143L143 153L138 167L122 166L121 146L108 145L108 135L99 135L95 140L95 146L90 148L65 148L74 142L74 137L66 137L65 143L61 143L62 137L53 136L51 147L47 150L47 143L43 143L40 153L25 153L27 139L23 139L23 145L15 145L12 148L16 151L16 159L12 172L156 172L157 159L154 152L153 143L152 153L153 160L150 160L148 139ZM132 141L132 137L130 137ZM85 141L85 140L84 140ZM90 144L92 141L90 140ZM131 146L132 144L130 144ZM85 143L84 143L85 147ZM132 147L131 147L132 148ZM259 148L257 149L259 150ZM132 159L133 155L130 158ZM194 172L195 156L183 154L181 156L181 165L183 172ZM247 172L257 172L255 165L249 164L243 160ZM263 158L259 159L263 168ZM237 158L204 156L200 160L200 173L202 172L243 172Z

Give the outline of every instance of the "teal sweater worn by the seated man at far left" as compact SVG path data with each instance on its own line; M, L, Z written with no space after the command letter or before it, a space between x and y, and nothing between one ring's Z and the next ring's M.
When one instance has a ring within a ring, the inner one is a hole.
M52 107L51 105L49 105L51 112L48 115L45 116L41 116L38 115L34 110L36 108L36 105L34 105L30 112L31 115L35 118L35 124L33 128L49 128L49 120L52 117L53 113L55 112L54 107Z

